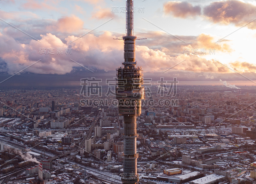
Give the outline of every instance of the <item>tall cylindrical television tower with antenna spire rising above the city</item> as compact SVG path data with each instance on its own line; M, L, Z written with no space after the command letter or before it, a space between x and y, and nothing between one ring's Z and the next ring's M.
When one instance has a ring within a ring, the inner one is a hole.
M119 115L124 116L124 173L123 184L138 184L136 140L137 116L141 114L141 100L144 99L143 71L136 67L135 40L133 35L133 1L126 1L126 35L124 40L124 62L116 69L116 99Z

